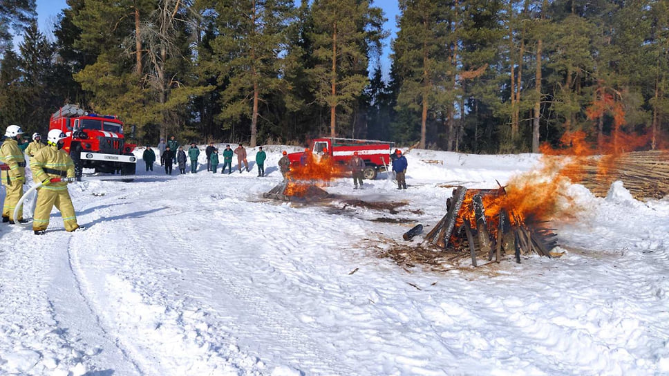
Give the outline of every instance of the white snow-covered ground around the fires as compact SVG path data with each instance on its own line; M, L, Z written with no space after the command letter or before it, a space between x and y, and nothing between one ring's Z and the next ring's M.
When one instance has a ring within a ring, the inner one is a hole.
M140 160L134 182L71 184L84 232L55 212L44 236L0 225L0 375L669 374L668 200L572 185L564 256L435 272L379 254L422 241L402 234L444 215L442 186L496 187L538 156L413 150L406 191L381 173L299 205L262 197L281 182L265 150L265 178Z

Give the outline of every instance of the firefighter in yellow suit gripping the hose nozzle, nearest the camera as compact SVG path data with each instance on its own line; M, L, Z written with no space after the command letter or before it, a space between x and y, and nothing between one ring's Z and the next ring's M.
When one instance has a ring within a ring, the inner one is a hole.
M47 146L39 149L35 156L30 158L32 179L42 183L37 189L37 204L35 216L32 218L32 230L35 235L44 234L49 225L51 208L56 205L65 223L65 230L73 232L79 228L75 208L67 191L66 182L50 182L52 178L74 178L75 164L68 154L61 150L63 139L67 136L57 129L52 129L47 135Z

